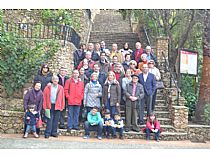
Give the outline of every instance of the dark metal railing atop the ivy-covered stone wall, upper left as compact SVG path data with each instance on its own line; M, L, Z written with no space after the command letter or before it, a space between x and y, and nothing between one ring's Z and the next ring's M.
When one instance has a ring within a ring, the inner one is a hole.
M57 39L73 43L77 48L80 44L79 34L68 25L34 24L34 23L4 23L2 31L12 32L19 38Z

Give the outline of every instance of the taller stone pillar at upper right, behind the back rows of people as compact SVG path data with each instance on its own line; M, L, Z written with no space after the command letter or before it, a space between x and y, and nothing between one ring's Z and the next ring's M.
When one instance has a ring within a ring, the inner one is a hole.
M164 52L166 59L168 59L168 37L157 37L156 38L156 56L157 61L164 61L162 52Z

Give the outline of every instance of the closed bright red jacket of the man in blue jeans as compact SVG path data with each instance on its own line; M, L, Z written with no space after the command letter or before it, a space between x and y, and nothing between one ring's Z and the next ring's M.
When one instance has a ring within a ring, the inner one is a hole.
M68 105L81 106L84 97L84 83L80 79L75 83L74 79L70 78L66 81L64 93L68 99Z

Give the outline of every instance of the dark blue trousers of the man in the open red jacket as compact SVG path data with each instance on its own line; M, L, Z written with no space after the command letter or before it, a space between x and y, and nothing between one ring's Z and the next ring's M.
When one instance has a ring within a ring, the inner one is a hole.
M47 118L47 126L45 129L45 136L58 134L57 130L58 130L59 118L60 118L60 111L55 110L55 104L52 104L51 109L50 109L50 118Z

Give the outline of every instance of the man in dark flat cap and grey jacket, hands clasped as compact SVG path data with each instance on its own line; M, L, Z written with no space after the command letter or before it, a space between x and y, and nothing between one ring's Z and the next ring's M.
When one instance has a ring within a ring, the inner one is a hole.
M138 83L138 80L138 75L133 74L132 81L126 85L126 132L131 128L133 131L139 132L137 127L137 108L144 97L144 88Z

